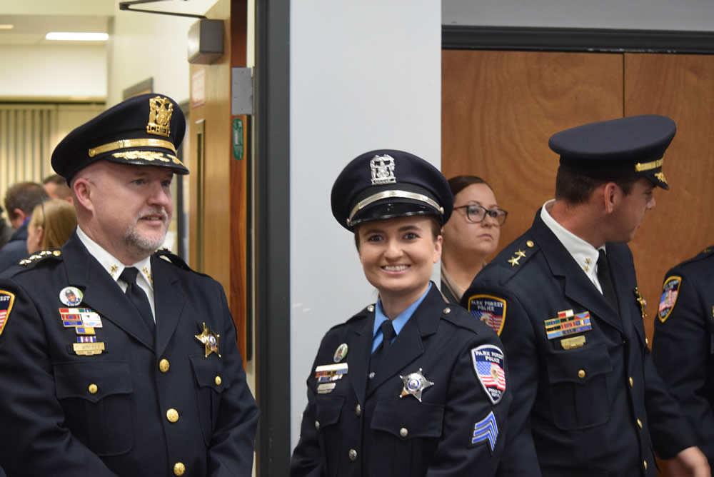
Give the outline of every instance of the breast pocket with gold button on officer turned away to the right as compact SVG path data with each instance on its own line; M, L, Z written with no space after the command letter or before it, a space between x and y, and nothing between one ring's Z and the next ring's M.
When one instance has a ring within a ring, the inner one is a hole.
M550 354L550 412L565 431L600 426L610 418L608 373L613 371L605 346Z

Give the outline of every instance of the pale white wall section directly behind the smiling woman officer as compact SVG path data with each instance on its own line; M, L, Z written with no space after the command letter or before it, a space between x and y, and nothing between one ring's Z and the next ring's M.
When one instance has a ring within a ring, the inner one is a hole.
M323 334L373 303L330 190L348 161L403 149L441 164L441 5L291 2L291 439Z

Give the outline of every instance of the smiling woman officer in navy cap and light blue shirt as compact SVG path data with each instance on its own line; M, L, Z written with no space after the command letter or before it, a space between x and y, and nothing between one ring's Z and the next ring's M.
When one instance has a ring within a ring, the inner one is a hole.
M492 476L511 383L501 341L430 281L453 197L403 151L351 161L332 211L379 298L324 336L291 476Z

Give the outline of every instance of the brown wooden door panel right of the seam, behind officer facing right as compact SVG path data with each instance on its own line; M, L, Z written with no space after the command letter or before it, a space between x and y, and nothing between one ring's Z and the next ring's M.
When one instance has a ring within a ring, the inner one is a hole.
M624 85L626 116L665 114L677 123L663 165L670 189L655 193L657 206L630 243L651 343L665 273L714 245L714 56L625 54Z

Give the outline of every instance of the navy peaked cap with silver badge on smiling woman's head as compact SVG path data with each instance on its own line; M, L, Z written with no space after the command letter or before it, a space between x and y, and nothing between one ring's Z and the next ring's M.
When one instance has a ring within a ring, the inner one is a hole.
M430 215L443 225L453 196L436 167L393 149L369 151L353 159L332 186L332 214L353 231L363 222Z

